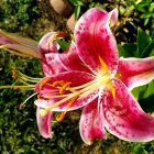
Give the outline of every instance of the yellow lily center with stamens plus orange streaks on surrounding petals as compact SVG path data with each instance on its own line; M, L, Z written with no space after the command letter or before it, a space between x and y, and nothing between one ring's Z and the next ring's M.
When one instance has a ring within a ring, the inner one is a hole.
M62 121L69 108L75 106L77 101L80 101L82 98L86 98L87 96L98 90L100 87L109 88L114 97L114 87L110 77L110 72L101 57L99 57L99 61L102 69L100 69L94 80L90 80L84 85L73 86L72 81L66 80L56 80L51 84L51 78L45 78L44 80L42 80L42 82L40 84L40 90L42 90L44 86L50 86L51 90L52 88L56 88L56 92L54 91L55 94L53 92L48 97L44 97L44 99L57 99L57 101L52 106L44 108L41 114L45 116L54 108L67 103L67 106L63 107L62 109L64 112L56 118L57 121Z

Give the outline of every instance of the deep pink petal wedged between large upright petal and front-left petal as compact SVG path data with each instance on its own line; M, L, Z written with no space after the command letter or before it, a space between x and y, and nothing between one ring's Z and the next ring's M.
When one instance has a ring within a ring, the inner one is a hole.
M82 63L77 54L77 48L74 43L70 44L68 50L64 51L58 55L62 65L67 70L80 70L80 72L90 72L87 66Z

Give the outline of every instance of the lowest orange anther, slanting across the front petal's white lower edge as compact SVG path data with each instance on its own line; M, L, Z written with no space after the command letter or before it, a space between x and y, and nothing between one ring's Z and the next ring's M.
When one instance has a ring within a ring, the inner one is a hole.
M63 113L61 113L61 114L58 114L58 116L56 117L56 120L57 120L58 122L63 121L63 119L65 118L65 116L66 116L68 109L74 105L74 102L75 102L78 98L79 98L79 96L77 95L77 96L75 96L74 98L70 99L70 101L69 101L68 105L67 105L66 110L65 110Z

